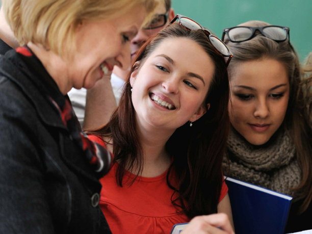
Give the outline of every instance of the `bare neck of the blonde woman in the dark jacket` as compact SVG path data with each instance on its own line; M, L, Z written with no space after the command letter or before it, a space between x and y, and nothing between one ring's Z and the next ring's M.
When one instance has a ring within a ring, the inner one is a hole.
M66 95L72 88L72 83L68 78L67 65L64 60L53 51L46 50L40 44L29 42L27 45L41 61L46 71L58 85L60 91Z

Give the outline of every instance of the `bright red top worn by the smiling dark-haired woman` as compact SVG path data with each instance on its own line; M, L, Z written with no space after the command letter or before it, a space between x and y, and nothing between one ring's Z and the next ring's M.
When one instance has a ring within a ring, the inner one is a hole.
M101 138L89 138L105 146ZM190 221L186 215L176 214L170 199L173 191L166 181L167 171L153 178L139 176L132 186L119 187L115 176L117 167L116 163L111 171L100 179L102 190L99 205L113 234L170 233L174 224ZM123 181L131 180L134 176L127 172ZM170 181L174 181L174 177L171 177ZM227 190L224 182L220 201Z

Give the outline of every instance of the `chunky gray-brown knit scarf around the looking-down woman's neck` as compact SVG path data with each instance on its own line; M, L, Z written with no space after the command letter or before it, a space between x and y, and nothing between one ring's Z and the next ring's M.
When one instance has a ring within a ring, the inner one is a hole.
M224 157L224 174L290 195L296 201L301 192L289 189L296 188L301 181L295 146L280 130L272 138L263 146L254 146L232 129L227 141L230 173L227 174L228 163Z

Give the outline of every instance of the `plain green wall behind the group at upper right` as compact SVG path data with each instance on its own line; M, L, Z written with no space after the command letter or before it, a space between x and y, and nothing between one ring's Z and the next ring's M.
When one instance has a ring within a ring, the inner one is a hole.
M312 51L312 0L172 0L172 7L220 38L224 28L248 20L289 27L301 61Z

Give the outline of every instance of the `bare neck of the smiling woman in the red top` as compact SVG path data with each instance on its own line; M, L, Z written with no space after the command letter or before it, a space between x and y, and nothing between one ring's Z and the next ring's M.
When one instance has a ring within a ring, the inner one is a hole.
M170 166L171 159L165 145L174 131L162 130L158 127L145 128L140 123L137 123L137 129L144 151L142 176L161 175Z

